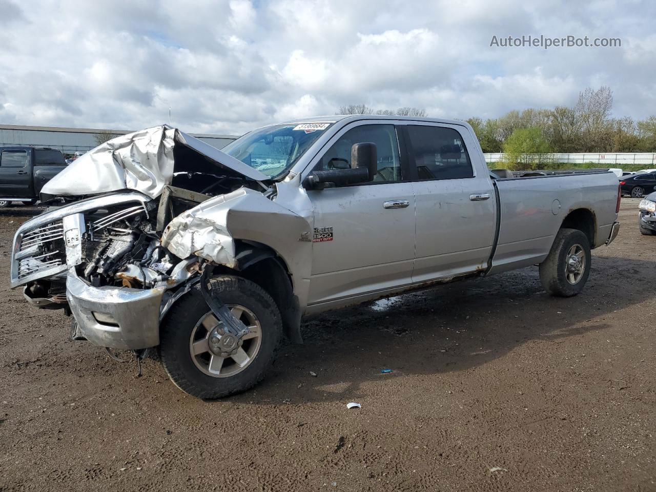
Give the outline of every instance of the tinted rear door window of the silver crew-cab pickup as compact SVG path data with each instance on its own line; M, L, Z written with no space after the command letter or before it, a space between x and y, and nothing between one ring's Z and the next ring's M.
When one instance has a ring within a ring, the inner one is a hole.
M411 159L419 180L473 178L474 169L460 133L452 128L408 125Z

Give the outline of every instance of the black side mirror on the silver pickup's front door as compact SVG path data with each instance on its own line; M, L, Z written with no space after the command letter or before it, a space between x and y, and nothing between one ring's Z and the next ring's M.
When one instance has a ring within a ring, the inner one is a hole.
M354 144L351 147L351 169L313 171L303 181L307 190L323 190L349 184L368 183L378 172L376 144Z

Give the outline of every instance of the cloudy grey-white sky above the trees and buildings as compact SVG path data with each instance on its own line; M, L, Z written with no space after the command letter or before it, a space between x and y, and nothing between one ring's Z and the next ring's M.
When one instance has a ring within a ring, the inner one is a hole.
M342 104L496 117L574 104L656 114L651 1L0 0L0 123L240 134ZM490 47L619 37L620 48Z

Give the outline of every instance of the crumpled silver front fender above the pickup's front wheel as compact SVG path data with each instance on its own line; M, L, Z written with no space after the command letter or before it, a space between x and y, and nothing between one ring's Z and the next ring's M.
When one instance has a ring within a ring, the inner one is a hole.
M256 241L281 256L296 284L310 278L312 242L301 239L311 231L306 218L260 192L239 188L176 216L161 243L179 258L195 255L235 268L234 239Z

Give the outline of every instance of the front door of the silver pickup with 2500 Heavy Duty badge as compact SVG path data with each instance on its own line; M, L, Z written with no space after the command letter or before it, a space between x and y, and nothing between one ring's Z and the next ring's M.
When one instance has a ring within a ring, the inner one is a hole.
M314 170L350 167L351 147L373 142L373 182L310 190L314 206L312 277L308 304L366 297L411 283L415 255L415 198L403 182L394 125L356 122L337 133Z

